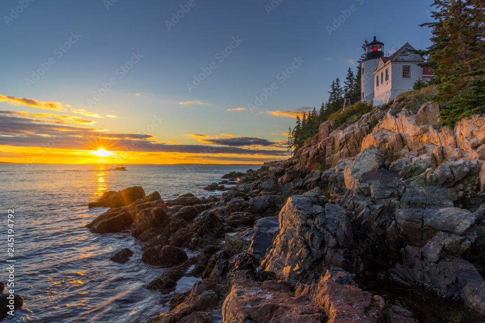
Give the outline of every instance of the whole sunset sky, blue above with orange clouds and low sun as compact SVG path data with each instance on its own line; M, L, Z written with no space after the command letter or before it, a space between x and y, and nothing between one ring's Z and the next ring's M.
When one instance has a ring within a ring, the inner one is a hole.
M0 162L260 164L432 0L2 0Z

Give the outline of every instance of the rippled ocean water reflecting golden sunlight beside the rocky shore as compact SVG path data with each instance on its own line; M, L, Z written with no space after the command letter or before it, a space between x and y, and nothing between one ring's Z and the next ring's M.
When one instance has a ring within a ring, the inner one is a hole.
M114 167L114 166L113 166ZM146 284L163 267L141 261L142 244L129 234L94 234L84 226L106 208L88 209L107 190L142 186L158 191L163 200L177 194L208 196L202 188L220 182L230 171L258 169L255 165L110 165L0 164L0 205L3 262L0 281L15 260L15 293L24 307L4 322L145 322L168 310L160 292ZM220 192L219 192L220 194ZM15 209L15 252L7 254L7 215ZM134 255L125 264L109 259L129 247ZM189 290L186 280L179 291Z

